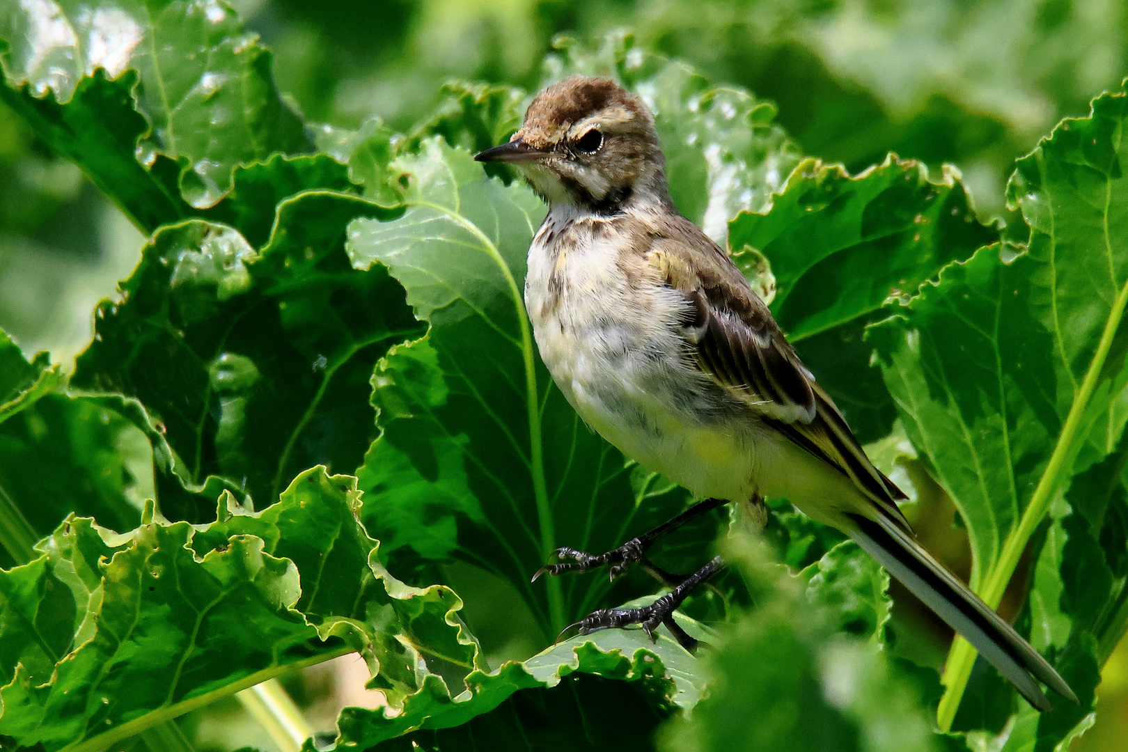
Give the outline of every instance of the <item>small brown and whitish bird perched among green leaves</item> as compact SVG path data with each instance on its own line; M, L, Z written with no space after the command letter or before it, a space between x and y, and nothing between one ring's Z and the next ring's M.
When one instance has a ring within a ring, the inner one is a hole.
M1077 699L1014 628L917 541L843 414L728 253L670 198L645 104L610 78L541 89L512 139L476 154L513 165L548 213L529 247L525 303L540 357L580 417L627 458L705 499L611 551L569 547L541 574L643 561L662 534L722 504L785 498L853 538L971 643L1037 709L1039 685ZM567 559L567 561L563 561ZM713 558L647 607L600 609L580 632L640 625L653 639Z

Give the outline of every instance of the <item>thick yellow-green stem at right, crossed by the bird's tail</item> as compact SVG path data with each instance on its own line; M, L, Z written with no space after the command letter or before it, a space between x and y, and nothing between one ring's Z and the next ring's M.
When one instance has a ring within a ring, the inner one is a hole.
M1034 534L1034 530L1041 524L1049 511L1050 502L1065 480L1067 462L1072 462L1076 457L1075 444L1082 419L1089 408L1093 391L1096 389L1096 383L1101 379L1101 371L1104 370L1104 361L1112 347L1112 340L1120 326L1120 319L1123 317L1126 303L1128 303L1128 284L1121 287L1112 304L1109 319L1104 322L1101 340L1096 345L1096 352L1093 353L1092 362L1089 364L1089 371L1081 383L1081 389L1073 398L1073 405L1069 406L1069 414L1066 416L1065 425L1061 426L1061 433L1058 434L1054 453L1050 455L1050 461L1046 466L1042 477L1038 480L1038 487L1034 488L1034 494L1030 497L1030 504L1022 512L1019 524L1007 536L998 560L988 572L984 586L978 593L984 602L993 609L998 608L999 601L1003 600L1003 593L1014 575L1015 567L1019 566L1022 551L1026 548L1030 537ZM975 661L976 649L966 639L957 636L948 653L944 675L941 678L941 683L944 684L944 696L940 698L940 707L936 708L936 723L941 731L948 732L952 727L952 720L955 719L955 711L960 707L960 700L963 698L963 690L968 685Z

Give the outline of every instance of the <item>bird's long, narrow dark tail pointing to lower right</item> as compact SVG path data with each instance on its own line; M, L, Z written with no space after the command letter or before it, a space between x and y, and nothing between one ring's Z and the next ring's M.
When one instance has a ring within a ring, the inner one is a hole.
M1077 697L1058 672L1014 631L989 605L924 550L893 520L874 522L849 515L856 528L851 537L914 595L971 643L980 655L999 670L1030 705L1046 713L1052 707L1033 674L1061 697Z

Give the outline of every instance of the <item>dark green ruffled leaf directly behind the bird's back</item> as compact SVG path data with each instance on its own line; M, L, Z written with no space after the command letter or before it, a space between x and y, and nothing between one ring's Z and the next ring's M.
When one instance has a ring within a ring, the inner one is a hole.
M748 253L767 257L778 290L773 315L863 442L887 435L895 418L869 365L865 325L888 298L997 237L976 220L955 175L933 182L923 165L892 158L856 177L807 160L769 209L742 212L729 228L738 263Z

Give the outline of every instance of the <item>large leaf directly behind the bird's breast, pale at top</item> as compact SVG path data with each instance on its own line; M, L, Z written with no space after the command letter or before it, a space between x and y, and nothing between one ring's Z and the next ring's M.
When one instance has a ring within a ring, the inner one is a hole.
M389 552L457 556L508 578L548 638L608 590L601 574L530 584L552 551L614 548L688 495L633 479L540 363L521 294L539 200L437 139L393 168L408 176L407 211L353 222L349 251L359 268L386 264L430 330L373 377L382 434L359 471L364 521Z

